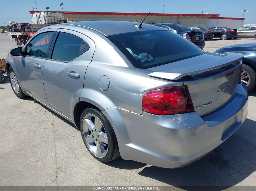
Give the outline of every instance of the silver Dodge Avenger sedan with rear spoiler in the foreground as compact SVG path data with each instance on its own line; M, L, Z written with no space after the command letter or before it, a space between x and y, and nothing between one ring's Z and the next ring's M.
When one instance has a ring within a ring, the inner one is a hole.
M85 21L39 30L7 56L14 94L74 123L101 162L176 168L232 135L248 113L242 54L205 52L153 25Z

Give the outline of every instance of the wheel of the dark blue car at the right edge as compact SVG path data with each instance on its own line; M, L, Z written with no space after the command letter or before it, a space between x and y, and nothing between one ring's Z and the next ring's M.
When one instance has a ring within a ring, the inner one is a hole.
M242 65L242 82L248 87L248 91L252 91L255 86L256 73L253 68L250 66L243 64Z

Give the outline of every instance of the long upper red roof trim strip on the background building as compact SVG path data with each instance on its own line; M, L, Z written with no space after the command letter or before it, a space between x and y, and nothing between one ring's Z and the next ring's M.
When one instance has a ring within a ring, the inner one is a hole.
M29 11L30 14L46 12L46 11ZM49 11L52 13L62 13L62 11ZM64 14L80 14L80 15L131 15L146 16L148 13L119 13L119 12L75 12L63 11ZM149 16L169 16L169 17L219 17L219 14L172 14L172 13L150 13Z

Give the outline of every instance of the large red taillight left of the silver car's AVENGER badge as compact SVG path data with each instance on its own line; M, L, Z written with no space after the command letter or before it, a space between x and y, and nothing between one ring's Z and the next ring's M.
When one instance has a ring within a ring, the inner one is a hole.
M142 95L142 110L158 115L194 111L187 86L175 86L147 91Z

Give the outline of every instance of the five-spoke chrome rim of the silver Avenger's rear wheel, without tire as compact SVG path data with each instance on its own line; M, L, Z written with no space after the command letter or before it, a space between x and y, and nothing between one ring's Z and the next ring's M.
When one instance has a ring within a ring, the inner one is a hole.
M96 157L105 157L108 153L108 136L98 117L92 113L86 114L81 128L87 148Z

